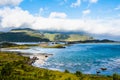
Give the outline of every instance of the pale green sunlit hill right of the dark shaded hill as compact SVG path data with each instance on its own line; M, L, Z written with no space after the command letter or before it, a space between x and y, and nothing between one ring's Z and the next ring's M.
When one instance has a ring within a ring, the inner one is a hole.
M84 41L93 40L92 37L80 34L60 34L60 33L45 33L45 38L50 41Z

